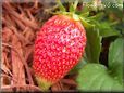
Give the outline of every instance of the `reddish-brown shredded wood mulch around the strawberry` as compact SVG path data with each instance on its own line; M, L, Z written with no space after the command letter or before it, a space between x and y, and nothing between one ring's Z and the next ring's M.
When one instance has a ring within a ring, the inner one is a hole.
M34 41L42 23L51 16L51 9L45 10L50 5L37 1L2 4L2 91L41 91L32 69ZM75 90L75 77L65 76L50 91Z

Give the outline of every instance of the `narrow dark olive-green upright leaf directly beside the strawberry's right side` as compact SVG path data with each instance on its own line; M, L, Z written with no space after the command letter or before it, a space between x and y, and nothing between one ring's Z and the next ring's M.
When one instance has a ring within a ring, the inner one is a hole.
M101 52L101 37L99 35L99 30L96 28L86 29L86 56L88 62L99 63L99 56Z

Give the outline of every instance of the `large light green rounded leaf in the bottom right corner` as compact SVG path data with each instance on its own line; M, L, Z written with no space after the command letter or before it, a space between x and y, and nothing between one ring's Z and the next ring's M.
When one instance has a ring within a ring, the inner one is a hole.
M80 91L122 91L123 87L100 64L87 64L77 77Z

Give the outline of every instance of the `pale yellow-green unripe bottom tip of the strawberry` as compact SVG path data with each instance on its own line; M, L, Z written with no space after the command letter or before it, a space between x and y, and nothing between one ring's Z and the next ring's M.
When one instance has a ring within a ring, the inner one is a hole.
M39 77L39 76L36 76L36 80L37 80L37 83L38 83L38 87L42 90L42 91L48 91L49 88L52 85L52 82Z

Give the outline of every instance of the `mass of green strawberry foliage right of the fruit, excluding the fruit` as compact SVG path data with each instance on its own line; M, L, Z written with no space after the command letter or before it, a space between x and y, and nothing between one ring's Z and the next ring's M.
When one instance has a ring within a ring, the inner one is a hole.
M77 77L78 90L123 91L124 89L124 29L122 27L124 24L122 9L111 6L104 10L97 12L92 18L87 17L90 24L95 26L92 29L86 28L88 40L86 46L87 64L79 70ZM108 59L106 62L100 61L100 53L104 49L102 42L104 39L110 44L108 46L108 55L106 55Z

